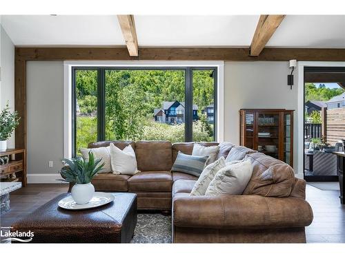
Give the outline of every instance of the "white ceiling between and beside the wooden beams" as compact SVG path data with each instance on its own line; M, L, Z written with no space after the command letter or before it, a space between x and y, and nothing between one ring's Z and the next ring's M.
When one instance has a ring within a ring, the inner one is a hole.
M248 47L259 15L135 16L140 46ZM116 15L3 15L14 45L124 45ZM287 15L267 46L345 47L345 16Z

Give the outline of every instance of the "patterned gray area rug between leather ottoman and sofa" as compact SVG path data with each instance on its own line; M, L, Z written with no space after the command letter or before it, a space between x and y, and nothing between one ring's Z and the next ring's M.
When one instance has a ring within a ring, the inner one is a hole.
M137 227L131 243L171 243L171 216L160 213L138 214Z

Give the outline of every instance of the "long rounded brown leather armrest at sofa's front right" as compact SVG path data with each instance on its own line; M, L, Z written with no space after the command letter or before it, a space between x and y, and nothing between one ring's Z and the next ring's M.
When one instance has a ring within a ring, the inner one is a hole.
M296 197L181 196L172 205L173 223L178 227L290 228L313 221L311 206Z

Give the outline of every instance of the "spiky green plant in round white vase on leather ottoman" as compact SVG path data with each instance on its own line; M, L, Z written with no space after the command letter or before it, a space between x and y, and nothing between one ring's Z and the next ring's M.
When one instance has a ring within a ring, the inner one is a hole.
M91 184L92 178L103 169L104 162L96 159L92 152L88 153L88 160L83 157L63 159L63 168L60 174L63 181L75 183L72 187L72 198L77 204L87 204L95 193L95 187Z

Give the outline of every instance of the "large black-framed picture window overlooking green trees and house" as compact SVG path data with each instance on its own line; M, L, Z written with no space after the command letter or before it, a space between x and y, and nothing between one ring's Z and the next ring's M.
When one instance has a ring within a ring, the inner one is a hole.
M216 140L216 67L72 67L72 78L73 155L97 140Z

